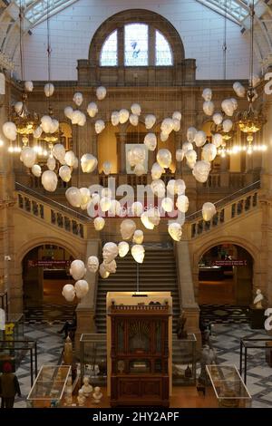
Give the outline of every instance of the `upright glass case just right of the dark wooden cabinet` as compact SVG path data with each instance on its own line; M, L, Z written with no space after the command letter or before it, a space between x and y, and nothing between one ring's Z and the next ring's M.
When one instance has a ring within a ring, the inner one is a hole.
M173 362L172 376L173 384L180 386L193 386L196 384L196 353L197 338L189 333L186 338L173 338L175 348L175 363Z

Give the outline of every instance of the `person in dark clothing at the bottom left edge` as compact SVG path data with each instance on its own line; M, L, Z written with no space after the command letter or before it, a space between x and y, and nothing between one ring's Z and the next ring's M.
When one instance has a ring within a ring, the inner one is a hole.
M17 376L12 373L12 370L11 363L4 363L3 374L0 376L1 408L13 408L15 395L22 396Z

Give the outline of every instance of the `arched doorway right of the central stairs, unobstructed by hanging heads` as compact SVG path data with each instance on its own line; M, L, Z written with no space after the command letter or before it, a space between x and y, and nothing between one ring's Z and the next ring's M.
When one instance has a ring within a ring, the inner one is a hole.
M250 305L253 258L244 247L220 244L199 259L199 305Z

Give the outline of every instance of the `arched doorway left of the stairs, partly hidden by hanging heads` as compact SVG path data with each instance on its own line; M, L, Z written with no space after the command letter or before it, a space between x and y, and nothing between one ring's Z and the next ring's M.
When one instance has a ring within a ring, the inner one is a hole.
M22 261L24 308L67 304L62 289L65 284L74 283L69 274L72 261L71 253L60 246L44 244L32 248Z

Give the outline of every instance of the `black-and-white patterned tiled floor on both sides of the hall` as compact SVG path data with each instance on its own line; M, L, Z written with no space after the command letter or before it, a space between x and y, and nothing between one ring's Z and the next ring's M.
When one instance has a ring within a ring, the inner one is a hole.
M38 367L59 363L63 350L63 336L56 333L60 325L26 324L25 334L37 339ZM251 330L248 324L214 324L211 344L217 351L218 363L239 365L239 339L244 336L261 337L262 331ZM252 352L251 352L252 351ZM253 396L253 407L272 407L272 368L265 360L263 349L249 350L248 390ZM199 366L198 366L199 367ZM23 398L16 399L15 407L25 407L25 397L30 390L29 357L24 358L17 370ZM199 371L199 368L198 368Z

